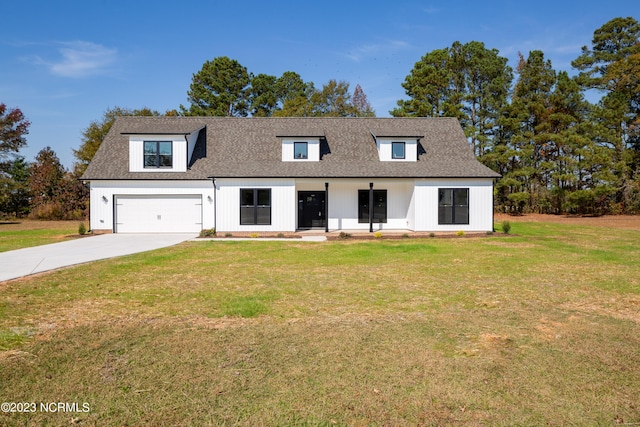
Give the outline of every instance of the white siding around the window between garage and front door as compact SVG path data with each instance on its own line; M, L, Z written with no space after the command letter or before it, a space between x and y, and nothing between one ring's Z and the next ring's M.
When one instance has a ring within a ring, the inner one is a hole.
M296 191L293 179L216 179L216 230L220 232L295 231ZM271 189L271 225L240 225L240 190Z

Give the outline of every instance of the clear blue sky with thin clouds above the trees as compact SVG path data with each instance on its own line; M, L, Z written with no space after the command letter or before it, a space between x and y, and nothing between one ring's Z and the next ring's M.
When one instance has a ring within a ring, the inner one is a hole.
M193 74L218 56L254 74L295 71L316 87L360 84L384 117L426 52L477 40L511 66L538 49L573 73L594 30L640 20L640 2L21 0L4 2L2 15L0 102L32 123L20 154L32 161L48 145L71 168L82 130L105 110L188 105Z

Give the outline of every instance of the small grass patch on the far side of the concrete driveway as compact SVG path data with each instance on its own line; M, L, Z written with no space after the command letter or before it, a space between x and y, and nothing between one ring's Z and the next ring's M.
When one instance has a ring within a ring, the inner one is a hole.
M79 221L0 221L0 252L57 243L78 235Z

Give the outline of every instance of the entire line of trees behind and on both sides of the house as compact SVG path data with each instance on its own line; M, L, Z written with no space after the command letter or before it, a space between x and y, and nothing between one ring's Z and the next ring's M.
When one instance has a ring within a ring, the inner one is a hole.
M554 70L539 50L515 69L497 49L472 41L427 52L406 76L394 117L456 117L478 159L502 175L496 208L505 212L640 213L640 24L615 18L594 32L572 62ZM597 95L600 99L589 102ZM82 173L119 116L373 117L363 89L299 74L253 74L217 57L193 74L188 106L108 109L84 129L73 170L53 150L34 162L17 155L29 121L0 104L0 215L78 219L88 192Z

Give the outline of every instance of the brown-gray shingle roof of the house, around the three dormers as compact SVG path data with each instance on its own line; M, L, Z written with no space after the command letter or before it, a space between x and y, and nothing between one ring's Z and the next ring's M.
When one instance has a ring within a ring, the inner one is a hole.
M200 131L187 172L129 172L130 134ZM417 162L381 162L374 136L418 137ZM286 136L324 136L319 162L283 162ZM325 150L326 151L326 150ZM454 118L120 117L83 179L498 178L478 162Z

